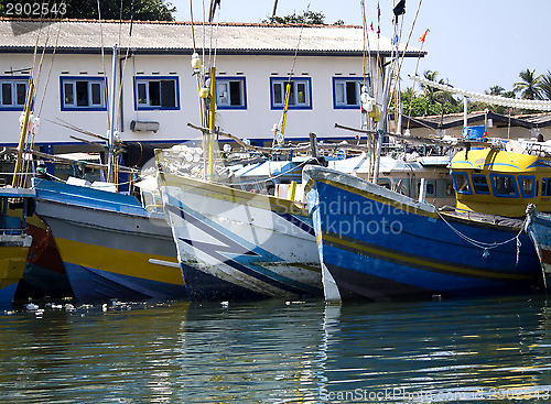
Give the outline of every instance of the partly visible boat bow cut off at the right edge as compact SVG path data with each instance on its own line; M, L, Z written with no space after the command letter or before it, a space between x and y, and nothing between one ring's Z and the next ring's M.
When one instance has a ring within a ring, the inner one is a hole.
M545 290L551 287L551 215L538 211L530 204L527 209L525 231L538 252Z

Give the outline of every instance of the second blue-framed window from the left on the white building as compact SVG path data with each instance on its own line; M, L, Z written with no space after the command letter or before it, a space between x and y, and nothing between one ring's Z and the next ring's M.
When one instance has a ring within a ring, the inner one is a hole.
M62 111L106 111L104 77L60 77Z

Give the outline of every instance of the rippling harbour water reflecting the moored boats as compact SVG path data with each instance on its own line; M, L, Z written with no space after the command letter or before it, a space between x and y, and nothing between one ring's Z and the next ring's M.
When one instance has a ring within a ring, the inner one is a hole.
M2 402L551 400L543 295L40 306L0 316Z

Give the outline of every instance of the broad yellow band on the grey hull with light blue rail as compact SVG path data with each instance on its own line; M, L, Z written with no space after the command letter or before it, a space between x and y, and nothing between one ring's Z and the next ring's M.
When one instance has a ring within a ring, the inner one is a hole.
M64 262L149 281L184 285L182 271L179 267L149 262L150 259L154 259L177 263L175 258L110 249L60 238L55 241Z

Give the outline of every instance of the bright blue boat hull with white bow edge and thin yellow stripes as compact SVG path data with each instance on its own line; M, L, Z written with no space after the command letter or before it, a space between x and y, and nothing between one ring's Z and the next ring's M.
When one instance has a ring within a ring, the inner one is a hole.
M522 221L443 211L333 170L303 171L326 299L520 293L541 284Z

